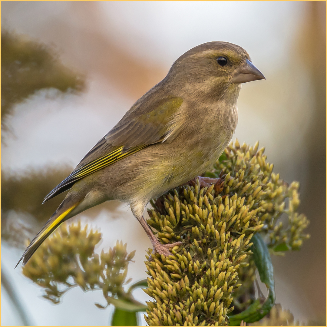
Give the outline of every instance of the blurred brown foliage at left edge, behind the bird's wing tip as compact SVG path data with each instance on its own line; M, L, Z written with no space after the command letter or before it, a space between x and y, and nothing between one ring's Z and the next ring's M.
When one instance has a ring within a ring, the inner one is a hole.
M28 229L28 224L25 226L19 224L15 228L9 214L15 211L22 217L30 215L32 219L34 218L35 228L42 227L56 211L65 193L42 204L44 195L49 192L52 185L59 184L71 171L72 167L69 166L31 169L19 174L1 171L1 236L11 244L23 245L22 235Z

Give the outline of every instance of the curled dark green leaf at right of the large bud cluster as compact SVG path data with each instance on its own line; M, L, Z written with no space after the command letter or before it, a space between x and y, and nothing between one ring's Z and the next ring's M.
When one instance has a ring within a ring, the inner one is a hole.
M242 320L246 323L258 321L265 317L275 304L274 269L268 247L258 233L252 236L251 241L253 242L251 251L253 252L254 262L261 282L265 283L269 290L268 297L264 303L261 304L260 300L257 299L246 310L237 315L230 316L230 326L239 326Z

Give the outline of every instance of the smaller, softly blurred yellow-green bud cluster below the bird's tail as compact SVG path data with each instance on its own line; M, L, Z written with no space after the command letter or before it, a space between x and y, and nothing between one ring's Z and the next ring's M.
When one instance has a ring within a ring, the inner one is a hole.
M23 267L23 274L43 287L46 299L58 303L61 296L74 286L84 291L101 289L105 299L119 306L115 300L124 299L134 304L131 293L125 292L127 267L135 251L127 253L126 244L118 242L108 252L95 253L101 233L82 229L80 222L68 226L64 223ZM103 308L100 304L98 307Z

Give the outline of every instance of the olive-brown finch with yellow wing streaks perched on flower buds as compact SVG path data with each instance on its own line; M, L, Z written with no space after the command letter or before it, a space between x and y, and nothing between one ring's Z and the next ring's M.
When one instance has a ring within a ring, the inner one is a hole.
M260 79L249 54L233 43L203 43L181 55L44 198L69 190L17 265L25 265L62 222L109 200L128 203L153 251L170 255L181 242L157 240L144 219L146 204L216 162L237 125L241 84Z

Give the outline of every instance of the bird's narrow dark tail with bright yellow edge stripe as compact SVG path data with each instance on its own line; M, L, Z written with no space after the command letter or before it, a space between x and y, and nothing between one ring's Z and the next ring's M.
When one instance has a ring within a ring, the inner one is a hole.
M43 243L43 241L65 220L67 220L69 217L67 215L77 207L78 203L75 203L67 208L67 206L64 206L65 200L60 204L59 208L56 210L56 212L50 217L50 219L45 223L43 228L40 232L34 237L32 242L28 245L26 248L24 254L17 262L16 267L23 259L23 265L26 264L26 262L31 258L33 253L39 248L39 246ZM16 268L15 267L15 268Z

